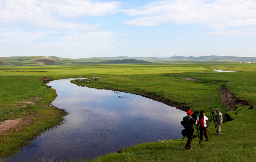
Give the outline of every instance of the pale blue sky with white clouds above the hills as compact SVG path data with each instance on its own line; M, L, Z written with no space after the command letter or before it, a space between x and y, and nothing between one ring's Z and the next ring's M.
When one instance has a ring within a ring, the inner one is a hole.
M256 56L256 0L0 0L0 57Z

